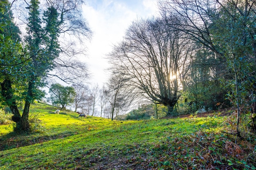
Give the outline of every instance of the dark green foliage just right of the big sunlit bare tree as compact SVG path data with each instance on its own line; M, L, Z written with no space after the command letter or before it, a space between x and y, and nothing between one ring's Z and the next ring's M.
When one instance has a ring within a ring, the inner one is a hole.
M218 65L216 54L198 45L196 53L191 62L191 71L187 77L187 86L182 94L179 104L185 106L182 111L186 114L195 113L203 107L206 110L217 110L217 103L222 106L230 106L229 101L225 100L228 89L220 85L220 73L226 69ZM178 111L179 114L182 114Z

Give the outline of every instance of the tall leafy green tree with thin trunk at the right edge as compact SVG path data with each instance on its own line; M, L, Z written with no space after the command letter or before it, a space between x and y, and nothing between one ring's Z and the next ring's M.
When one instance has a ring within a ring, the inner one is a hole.
M218 29L214 28L213 40L221 46L227 72L231 77L223 77L222 85L230 89L227 99L238 110L238 126L241 113L247 113L249 110L252 110L252 113L256 111L255 108L252 109L256 98L256 42L254 39L256 14L249 10L255 9L255 4L247 4L247 1L237 3L234 5L232 2L226 2L220 9L218 17L214 18L213 24ZM252 119L252 122L254 121L255 119ZM252 126L252 131L256 132L256 126Z

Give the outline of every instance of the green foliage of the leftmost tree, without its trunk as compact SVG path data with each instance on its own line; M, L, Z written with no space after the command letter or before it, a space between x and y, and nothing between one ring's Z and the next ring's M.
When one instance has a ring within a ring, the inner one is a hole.
M19 29L13 23L10 4L8 1L1 1L0 7L0 82L9 78L16 82L18 91L20 88L17 82L25 79L27 71L24 65L27 64L27 55L25 55L22 44L19 42Z

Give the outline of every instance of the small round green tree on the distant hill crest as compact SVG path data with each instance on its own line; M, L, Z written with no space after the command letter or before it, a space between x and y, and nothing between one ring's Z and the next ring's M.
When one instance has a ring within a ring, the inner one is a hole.
M61 104L61 109L74 103L74 98L76 96L76 91L73 87L65 87L61 84L52 84L49 93L51 95L50 100L52 101L52 104Z

